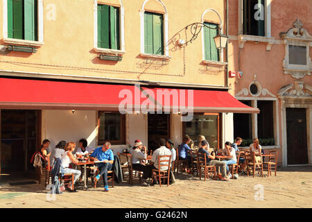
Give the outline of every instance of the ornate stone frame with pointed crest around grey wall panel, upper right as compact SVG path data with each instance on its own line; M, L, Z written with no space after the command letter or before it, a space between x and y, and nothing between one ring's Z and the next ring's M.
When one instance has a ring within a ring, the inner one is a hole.
M312 62L309 57L310 44L312 36L302 28L303 24L299 19L293 24L294 28L289 29L286 33L280 33L281 39L285 44L285 57L283 61L284 74L290 74L293 78L303 78L311 76ZM306 47L306 65L295 65L289 63L289 45L305 46Z

